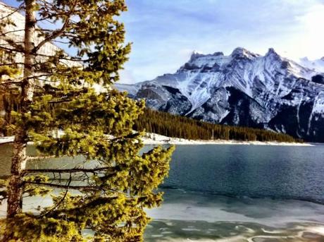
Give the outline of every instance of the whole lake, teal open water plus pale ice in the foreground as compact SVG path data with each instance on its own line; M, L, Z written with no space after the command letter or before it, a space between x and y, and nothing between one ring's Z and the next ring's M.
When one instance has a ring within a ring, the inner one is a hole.
M324 145L178 145L161 190L145 241L324 241Z

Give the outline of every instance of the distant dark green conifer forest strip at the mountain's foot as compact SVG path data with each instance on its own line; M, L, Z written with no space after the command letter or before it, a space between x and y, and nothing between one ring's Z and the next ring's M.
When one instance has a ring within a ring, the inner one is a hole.
M158 133L173 138L189 140L257 140L278 142L302 142L284 133L275 133L259 128L226 126L207 123L162 111L144 109L144 114L135 122L134 129Z

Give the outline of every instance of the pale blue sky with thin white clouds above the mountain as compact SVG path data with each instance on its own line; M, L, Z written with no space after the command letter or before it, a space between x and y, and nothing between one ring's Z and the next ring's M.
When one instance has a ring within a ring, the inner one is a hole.
M294 60L324 56L324 0L125 1L120 20L132 52L122 83L174 73L194 51L265 54L272 47Z

